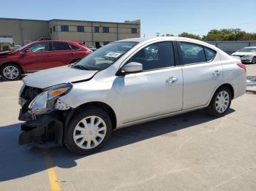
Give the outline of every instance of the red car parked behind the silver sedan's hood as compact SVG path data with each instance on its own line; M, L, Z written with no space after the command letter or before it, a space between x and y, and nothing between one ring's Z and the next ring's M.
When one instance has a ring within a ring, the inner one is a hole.
M19 79L21 74L74 63L91 52L78 42L31 42L15 51L0 52L0 75L7 80Z

